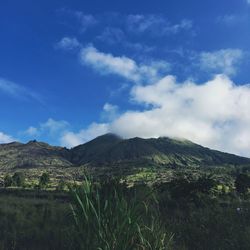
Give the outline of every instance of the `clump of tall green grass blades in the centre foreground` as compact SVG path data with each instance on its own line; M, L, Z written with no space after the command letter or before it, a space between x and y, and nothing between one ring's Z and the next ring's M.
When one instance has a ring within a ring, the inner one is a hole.
M77 242L87 250L165 250L171 248L172 235L161 225L149 200L118 182L84 184L71 190L72 212Z

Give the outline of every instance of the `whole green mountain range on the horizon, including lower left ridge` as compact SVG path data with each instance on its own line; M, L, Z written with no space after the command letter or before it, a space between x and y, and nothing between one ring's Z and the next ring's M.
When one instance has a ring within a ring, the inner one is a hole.
M246 165L250 159L211 150L188 140L122 139L106 134L72 149L37 141L0 145L0 169L71 166L221 166Z

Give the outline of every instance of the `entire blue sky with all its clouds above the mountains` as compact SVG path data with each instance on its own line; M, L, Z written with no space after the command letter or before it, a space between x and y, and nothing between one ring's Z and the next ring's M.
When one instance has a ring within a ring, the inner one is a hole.
M0 2L0 143L105 133L250 157L249 0Z

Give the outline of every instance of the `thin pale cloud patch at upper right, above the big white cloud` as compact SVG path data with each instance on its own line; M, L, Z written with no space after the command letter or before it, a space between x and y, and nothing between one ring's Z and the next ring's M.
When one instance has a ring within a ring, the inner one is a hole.
M222 49L214 52L202 52L199 63L203 70L234 75L242 58L243 52L240 49Z

